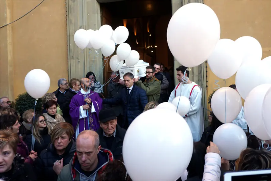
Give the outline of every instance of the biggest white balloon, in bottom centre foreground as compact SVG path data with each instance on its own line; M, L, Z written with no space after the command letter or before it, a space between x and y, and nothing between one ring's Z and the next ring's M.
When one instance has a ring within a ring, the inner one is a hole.
M172 154L180 150L178 156ZM134 181L176 180L187 168L192 152L188 124L167 109L150 109L137 116L123 141L125 168Z

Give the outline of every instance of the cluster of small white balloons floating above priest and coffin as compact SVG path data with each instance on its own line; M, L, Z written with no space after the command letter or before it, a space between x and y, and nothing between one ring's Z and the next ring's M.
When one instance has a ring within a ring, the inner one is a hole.
M110 59L110 68L113 71L121 69L124 60L127 66L134 66L139 61L139 53L131 50L128 43L124 43L129 36L125 26L119 26L115 30L110 25L102 25L99 30L79 29L74 34L74 42L81 48L101 48L105 57L112 55L117 47L117 55Z

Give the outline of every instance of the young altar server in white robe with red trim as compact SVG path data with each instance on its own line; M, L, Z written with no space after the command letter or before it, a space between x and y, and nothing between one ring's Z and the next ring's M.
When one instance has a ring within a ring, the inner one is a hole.
M171 103L176 96L185 96L190 100L190 110L183 117L190 127L193 135L193 140L199 141L204 131L203 109L201 104L202 89L199 85L197 85L195 82L190 81L189 79L187 80L187 82L182 81L182 77L184 77L184 72L186 69L187 67L185 66L180 66L176 68L176 78L180 83L171 92L169 102ZM188 70L186 71L185 77L189 77Z

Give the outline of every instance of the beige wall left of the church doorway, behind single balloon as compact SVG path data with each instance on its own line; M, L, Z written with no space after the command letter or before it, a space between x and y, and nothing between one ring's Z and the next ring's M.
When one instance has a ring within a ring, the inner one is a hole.
M0 25L16 20L39 2L1 0ZM47 72L51 80L49 92L58 88L59 78L68 79L65 1L44 1L19 21L1 28L0 36L0 96L14 100L25 92L24 77L32 69Z

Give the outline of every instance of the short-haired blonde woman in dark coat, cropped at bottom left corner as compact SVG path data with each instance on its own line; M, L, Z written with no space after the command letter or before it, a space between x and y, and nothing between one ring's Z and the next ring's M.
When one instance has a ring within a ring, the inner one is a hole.
M19 137L10 130L0 130L0 179L37 180L32 166L16 154Z

